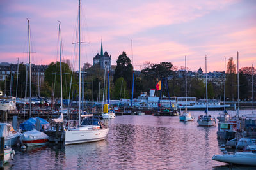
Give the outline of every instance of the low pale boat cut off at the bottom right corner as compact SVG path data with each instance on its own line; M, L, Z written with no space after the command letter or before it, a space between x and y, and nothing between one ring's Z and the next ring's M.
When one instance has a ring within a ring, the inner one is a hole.
M236 152L235 154L213 155L212 160L228 164L256 166L256 152Z

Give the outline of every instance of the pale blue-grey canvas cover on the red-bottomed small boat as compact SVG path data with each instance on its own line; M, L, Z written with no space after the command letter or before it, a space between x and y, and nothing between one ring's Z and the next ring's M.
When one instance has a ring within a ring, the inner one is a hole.
M20 139L22 141L32 141L32 140L39 140L39 139L48 139L48 136L43 132L39 132L36 129L33 129L32 131L24 132L22 136L20 136Z

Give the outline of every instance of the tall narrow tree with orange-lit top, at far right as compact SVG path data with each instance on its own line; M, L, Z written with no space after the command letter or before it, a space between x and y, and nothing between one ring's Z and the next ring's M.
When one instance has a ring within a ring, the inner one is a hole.
M236 64L234 64L233 57L228 59L227 64L227 85L226 85L226 92L227 97L234 100L236 97Z

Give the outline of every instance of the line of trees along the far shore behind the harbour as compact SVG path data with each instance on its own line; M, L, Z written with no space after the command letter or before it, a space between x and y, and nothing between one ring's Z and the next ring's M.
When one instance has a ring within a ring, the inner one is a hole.
M63 98L68 99L69 91L70 99L78 99L78 74L73 72L68 64L69 62L62 63L63 73ZM180 77L178 74L178 67L173 66L171 62L160 62L154 64L145 62L144 68L139 71L134 71L131 60L127 57L125 52L119 55L116 60L115 72L110 72L110 97L111 99L126 98L131 99L132 93L132 75L134 76L134 98L138 98L141 92L149 92L150 89L155 89L157 81L165 78L167 85L162 83L162 94L168 96L185 96L185 76ZM104 70L98 64L91 66L84 64L85 67L81 69L81 76L84 78L84 100L101 101L103 98L104 90ZM25 96L25 81L26 81L26 66L19 65L19 85L17 88L17 96ZM184 67L181 67L184 69ZM254 75L255 75L254 71ZM84 74L83 74L84 73ZM108 76L107 76L108 78ZM12 78L12 96L16 92L17 74L13 74ZM71 83L72 81L72 83ZM223 80L224 81L224 80ZM254 78L255 84L256 78ZM28 77L29 82L29 77ZM239 92L241 100L252 99L252 67L243 67L239 69ZM6 95L10 92L11 78L8 76L6 81L0 82L1 89L5 89ZM197 97L198 99L205 98L205 83L200 76L188 76L188 96ZM32 96L38 96L37 83L32 83ZM108 85L108 83L107 83ZM168 89L167 89L168 88ZM255 87L254 87L255 88ZM213 99L223 99L224 85L223 83L208 82L208 96ZM256 91L254 89L254 91ZM156 96L160 95L156 91ZM29 95L29 85L27 96ZM41 97L60 97L60 62L52 62L45 70L45 81L40 85ZM228 59L226 71L226 97L227 100L234 101L237 99L237 71L236 64L234 64L233 57Z

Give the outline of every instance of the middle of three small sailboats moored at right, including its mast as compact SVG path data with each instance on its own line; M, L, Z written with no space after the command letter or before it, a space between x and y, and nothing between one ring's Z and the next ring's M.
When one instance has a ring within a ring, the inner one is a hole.
M198 125L200 126L215 126L216 125L216 119L212 117L211 115L208 115L208 90L207 90L207 56L205 55L205 73L206 73L206 110L205 115L200 115L198 117Z

